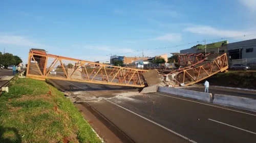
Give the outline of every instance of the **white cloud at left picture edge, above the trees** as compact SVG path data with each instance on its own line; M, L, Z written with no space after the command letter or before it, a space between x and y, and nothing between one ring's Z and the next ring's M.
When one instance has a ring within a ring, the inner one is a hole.
M57 47L41 44L38 42L34 42L33 40L28 39L26 37L22 37L22 36L7 36L7 35L0 36L0 44L26 46L30 48L44 48L44 49L57 48Z

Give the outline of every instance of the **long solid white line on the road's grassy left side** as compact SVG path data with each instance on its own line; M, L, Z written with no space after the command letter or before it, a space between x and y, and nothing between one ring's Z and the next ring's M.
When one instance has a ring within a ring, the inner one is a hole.
M65 81L65 80L63 80L63 81ZM69 82L69 81L66 81L66 82L68 82L68 83L70 83L70 84L72 84L72 85L75 85L75 84L73 84L73 83L71 83L71 82ZM78 88L80 88L80 89L82 89L82 90L84 90L84 91L87 91L86 89L83 89L83 88L81 88L81 87L79 87L79 86L77 86L77 85L75 85L75 86L78 87ZM89 92L89 91L87 91L87 92ZM91 93L91 92L90 92L90 93ZM94 94L94 93L92 93L92 94ZM94 94L94 95L96 95L96 94ZM97 95L96 95L96 96L97 96ZM108 101L108 102L110 102L110 103L112 103L112 104L114 104L114 105L116 105L116 106L118 106L118 107L120 107L120 108L126 110L126 111L129 111L129 112L133 113L134 115L137 115L137 116L139 116L140 118L145 119L145 120L147 120L147 121L149 121L149 122L151 122L151 123L153 123L153 124L155 124L155 125L157 125L157 126L163 128L163 129L165 129L165 130L167 130L167 131L169 131L169 132L172 132L172 133L174 133L174 134L176 134L176 135L178 135L178 136L180 136L180 137L182 137L182 138L184 138L184 139L186 139L186 140L188 140L188 141L190 141L190 142L197 143L197 142L194 141L194 140L191 140L191 139L189 139L189 138L187 138L187 137L185 137L185 136L183 136L183 135L181 135L181 134L179 134L179 133L177 133L177 132L175 132L175 131L173 131L173 130L170 130L170 129L168 129L168 128L166 128L166 127L164 127L164 126L162 126L162 125L160 125L160 124L158 124L158 123L156 123L156 122L153 122L153 121L151 121L151 120L149 120L149 119L147 119L147 118L145 118L145 117L143 117L143 116L140 116L140 115L138 115L136 112L133 112L133 111L131 111L131 110L129 110L129 109L126 109L126 108L124 108L124 107L122 107L122 106L120 106L120 105L118 105L118 104L116 104L116 103L114 103L114 102L112 102L112 101L106 99L106 98L102 98L102 97L100 97L100 98L101 98L101 99L104 99L104 100L106 100L106 101Z

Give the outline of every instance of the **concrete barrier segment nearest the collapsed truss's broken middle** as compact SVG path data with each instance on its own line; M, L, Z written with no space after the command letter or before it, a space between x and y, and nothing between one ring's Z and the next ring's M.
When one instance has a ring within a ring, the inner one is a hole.
M203 93L197 91L190 91L184 89L177 89L177 88L168 88L168 87L158 87L158 92L174 94L178 96L193 98L201 101L212 102L212 95L211 93Z

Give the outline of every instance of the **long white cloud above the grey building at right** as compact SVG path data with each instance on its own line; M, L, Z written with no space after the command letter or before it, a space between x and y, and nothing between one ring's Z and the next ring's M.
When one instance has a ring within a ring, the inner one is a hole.
M218 36L222 38L239 37L243 35L253 34L252 32L249 32L249 31L218 30L217 28L214 28L211 26L191 26L191 27L186 27L183 31L194 33L194 34Z

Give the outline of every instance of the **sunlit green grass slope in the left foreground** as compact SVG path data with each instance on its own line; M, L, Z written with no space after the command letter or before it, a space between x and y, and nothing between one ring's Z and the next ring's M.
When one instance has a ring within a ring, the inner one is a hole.
M66 141L64 141L66 140ZM0 97L0 142L101 142L69 99L44 81L14 80Z

